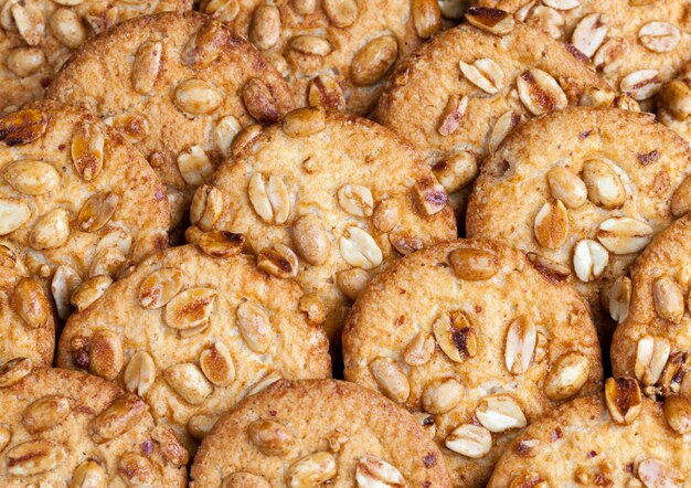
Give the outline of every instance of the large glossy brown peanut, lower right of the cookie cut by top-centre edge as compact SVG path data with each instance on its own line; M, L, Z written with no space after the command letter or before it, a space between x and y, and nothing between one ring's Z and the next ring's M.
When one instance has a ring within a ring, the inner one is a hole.
M398 43L393 35L382 35L358 51L350 65L355 85L373 85L391 70L398 57Z

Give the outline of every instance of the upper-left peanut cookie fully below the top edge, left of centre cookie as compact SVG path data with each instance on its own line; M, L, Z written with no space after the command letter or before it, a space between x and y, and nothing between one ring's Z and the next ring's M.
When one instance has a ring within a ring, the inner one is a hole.
M198 12L141 17L91 40L46 96L86 106L143 152L168 188L172 227L243 126L293 108L264 56Z

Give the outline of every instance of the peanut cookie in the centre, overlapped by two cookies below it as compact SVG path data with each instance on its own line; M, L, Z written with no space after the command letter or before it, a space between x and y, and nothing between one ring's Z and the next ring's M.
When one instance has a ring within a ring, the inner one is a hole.
M245 235L261 269L296 277L330 339L372 275L456 235L444 188L384 127L300 108L251 137L198 190L192 224Z

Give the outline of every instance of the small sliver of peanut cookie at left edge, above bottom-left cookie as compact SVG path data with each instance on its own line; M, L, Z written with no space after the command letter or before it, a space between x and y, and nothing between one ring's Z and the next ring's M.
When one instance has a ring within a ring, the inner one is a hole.
M7 247L0 246L0 364L29 358L53 364L55 322L41 283L8 267Z

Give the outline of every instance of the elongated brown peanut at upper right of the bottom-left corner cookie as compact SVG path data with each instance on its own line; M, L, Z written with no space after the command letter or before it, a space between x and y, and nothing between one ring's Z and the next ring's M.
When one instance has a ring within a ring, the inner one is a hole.
M103 444L132 428L146 417L148 411L141 399L125 393L92 418L88 424L89 434L96 444Z

